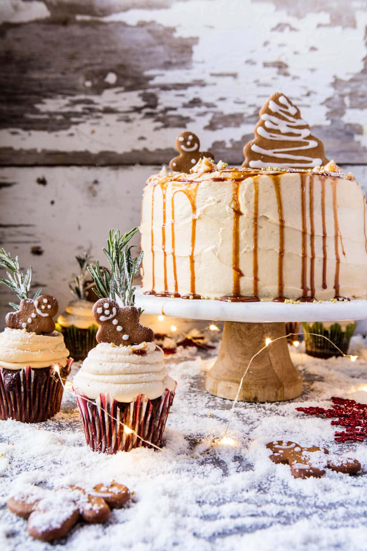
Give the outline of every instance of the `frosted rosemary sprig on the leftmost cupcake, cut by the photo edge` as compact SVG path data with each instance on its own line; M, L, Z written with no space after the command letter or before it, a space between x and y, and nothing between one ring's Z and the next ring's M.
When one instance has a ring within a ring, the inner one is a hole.
M0 266L8 269L8 279L4 279L0 276L0 283L4 283L9 289L12 289L20 300L28 299L32 284L32 267L30 266L24 275L20 271L18 256L13 258L10 252L6 252L5 249L0 249ZM33 300L40 296L41 291L42 289L40 288L34 295ZM9 302L9 305L13 306L15 310L19 310L19 304Z

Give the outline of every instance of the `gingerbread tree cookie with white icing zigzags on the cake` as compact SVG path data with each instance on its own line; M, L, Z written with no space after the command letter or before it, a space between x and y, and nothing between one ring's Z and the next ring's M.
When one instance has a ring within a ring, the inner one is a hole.
M255 138L243 148L243 168L309 169L328 163L324 144L286 95L272 94L259 115Z

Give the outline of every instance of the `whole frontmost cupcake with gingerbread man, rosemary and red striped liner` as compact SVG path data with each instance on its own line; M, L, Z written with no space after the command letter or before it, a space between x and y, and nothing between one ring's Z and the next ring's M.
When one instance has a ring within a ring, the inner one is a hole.
M99 324L98 344L90 350L73 388L92 450L116 453L135 447L161 446L176 382L169 377L163 350L154 333L140 325L132 280L143 258L131 256L128 241L138 231L108 239L111 276L91 269L100 296L92 308ZM120 277L124 274L124 277Z

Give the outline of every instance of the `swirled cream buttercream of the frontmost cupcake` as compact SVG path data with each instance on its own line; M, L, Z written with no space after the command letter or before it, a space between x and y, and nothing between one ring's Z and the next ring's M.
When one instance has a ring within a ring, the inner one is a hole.
M109 395L118 402L133 402L141 394L150 400L158 398L166 388L176 388L164 356L163 350L152 342L131 347L97 344L75 375L74 391L91 399Z

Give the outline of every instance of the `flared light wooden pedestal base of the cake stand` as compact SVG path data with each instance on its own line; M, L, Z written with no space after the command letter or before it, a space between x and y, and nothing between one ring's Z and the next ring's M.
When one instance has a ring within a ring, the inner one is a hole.
M206 376L206 390L214 396L234 400L251 357L265 345L285 334L284 323L224 323L221 349ZM287 339L269 344L252 361L244 377L239 400L277 402L297 398L302 378L289 356Z

